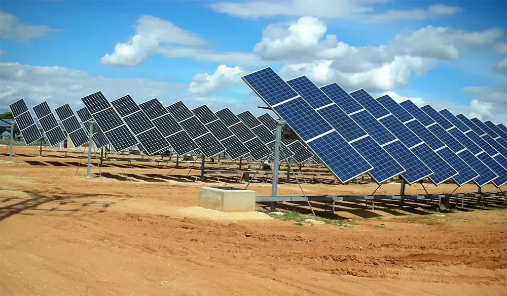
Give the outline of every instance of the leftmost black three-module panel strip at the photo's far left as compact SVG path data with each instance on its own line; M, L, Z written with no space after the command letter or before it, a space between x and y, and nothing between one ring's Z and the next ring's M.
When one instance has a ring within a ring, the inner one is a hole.
M14 121L26 145L30 145L42 138L41 131L39 131L39 128L35 125L35 121L31 117L30 111L28 111L28 107L23 99L9 105L9 109L11 109Z

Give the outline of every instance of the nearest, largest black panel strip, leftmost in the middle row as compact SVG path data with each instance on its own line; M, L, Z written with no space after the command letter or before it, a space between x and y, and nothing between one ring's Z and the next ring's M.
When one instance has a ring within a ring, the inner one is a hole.
M139 144L120 115L107 101L102 92L81 98L99 129L104 133L116 152L121 152ZM83 115L84 112L81 112ZM79 112L78 112L79 115Z

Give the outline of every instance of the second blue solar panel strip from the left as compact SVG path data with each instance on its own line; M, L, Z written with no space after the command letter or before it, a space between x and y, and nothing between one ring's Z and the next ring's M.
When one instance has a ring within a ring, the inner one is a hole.
M373 165L374 169L369 174L375 182L381 184L406 171L306 76L288 80L287 83L328 121L360 155Z

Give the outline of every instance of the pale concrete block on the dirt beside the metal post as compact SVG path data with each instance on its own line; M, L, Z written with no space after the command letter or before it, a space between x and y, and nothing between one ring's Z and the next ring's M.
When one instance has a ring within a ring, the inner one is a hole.
M233 187L201 187L198 205L222 212L255 212L256 193Z

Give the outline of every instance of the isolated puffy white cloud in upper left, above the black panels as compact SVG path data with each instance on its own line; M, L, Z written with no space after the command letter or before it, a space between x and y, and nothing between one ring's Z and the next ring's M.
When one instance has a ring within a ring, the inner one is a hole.
M141 16L134 25L136 34L127 43L119 43L112 54L105 54L105 65L136 66L149 55L158 53L162 45L201 46L206 43L199 35L179 28L170 21Z

